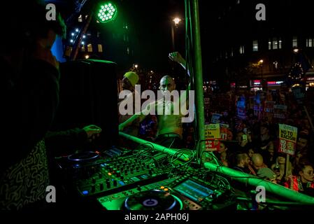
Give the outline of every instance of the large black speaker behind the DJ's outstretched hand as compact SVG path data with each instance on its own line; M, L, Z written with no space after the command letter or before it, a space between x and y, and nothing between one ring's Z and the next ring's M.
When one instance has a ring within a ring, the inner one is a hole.
M116 64L86 59L60 64L59 107L52 130L97 125L102 132L97 149L117 144Z

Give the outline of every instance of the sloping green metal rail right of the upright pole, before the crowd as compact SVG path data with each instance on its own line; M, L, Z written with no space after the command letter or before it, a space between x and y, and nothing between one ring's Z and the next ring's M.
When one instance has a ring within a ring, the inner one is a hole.
M272 193L274 195L285 197L288 200L292 200L292 201L296 201L296 202L300 202L304 204L314 204L314 197L304 195L294 190L290 190L289 188L285 188L284 186L280 186L270 181L258 179L256 176L245 174L243 172L238 172L228 167L220 167L210 162L205 162L204 166L212 171L219 172L221 174L226 174L227 176L231 178L232 176L236 176L236 178L234 179L236 181L239 181L242 183L248 183L251 186L264 186L266 190L266 202L267 202L267 193Z

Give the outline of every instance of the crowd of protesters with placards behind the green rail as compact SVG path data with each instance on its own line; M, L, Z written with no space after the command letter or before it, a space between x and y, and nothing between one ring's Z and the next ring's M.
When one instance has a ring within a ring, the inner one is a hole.
M269 119L269 113L258 116L253 109L246 110L244 119L238 118L236 106L234 111L215 111L222 115L218 122L229 126L229 139L222 139L220 149L213 153L225 167L314 196L311 115L291 92L285 92L285 98L289 99L287 113L280 120ZM297 127L293 155L280 150L279 124Z

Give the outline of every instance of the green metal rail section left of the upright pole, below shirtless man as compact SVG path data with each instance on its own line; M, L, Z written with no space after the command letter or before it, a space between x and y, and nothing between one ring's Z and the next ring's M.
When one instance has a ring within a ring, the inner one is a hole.
M160 146L158 144L155 144L155 143L152 143L150 141L145 141L143 139L139 139L137 137L134 137L132 135L129 135L129 134L125 134L124 132L119 132L119 135L121 137L124 137L126 139L129 139L131 141L135 141L137 142L138 144L148 144L148 146L153 146L155 150L157 151L160 151L162 153L169 153L170 155L174 155L174 154L177 154L177 155L180 155L178 156L178 158L180 160L184 160L184 161L188 161L190 160L190 156L189 155L186 155L184 153L178 153L178 150L179 149L173 149L173 148L167 148L167 147L164 147L164 146Z

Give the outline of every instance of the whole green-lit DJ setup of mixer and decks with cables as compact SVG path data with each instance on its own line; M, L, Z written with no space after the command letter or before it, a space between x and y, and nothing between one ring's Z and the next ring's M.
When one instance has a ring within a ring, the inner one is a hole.
M82 152L57 167L64 188L103 210L236 210L227 179L158 151Z

